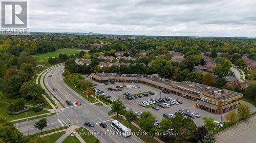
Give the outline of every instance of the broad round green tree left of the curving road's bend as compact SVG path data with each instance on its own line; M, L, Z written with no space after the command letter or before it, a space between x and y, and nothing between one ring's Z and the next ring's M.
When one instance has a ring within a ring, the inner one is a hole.
M34 83L32 80L24 82L22 87L19 89L19 93L22 97L31 98L32 100L36 100L36 98L41 97L42 94L45 93L45 90L39 87L38 84Z

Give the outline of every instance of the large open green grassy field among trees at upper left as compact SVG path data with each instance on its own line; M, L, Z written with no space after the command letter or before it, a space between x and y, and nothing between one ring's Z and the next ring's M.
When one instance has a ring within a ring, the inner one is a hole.
M40 61L44 61L44 60L48 60L51 57L56 57L58 56L60 53L65 53L67 55L69 54L75 54L78 49L57 49L56 51L53 52L46 52L46 53L41 53L41 54L34 54L32 55L34 59L36 59L36 62L40 62Z

